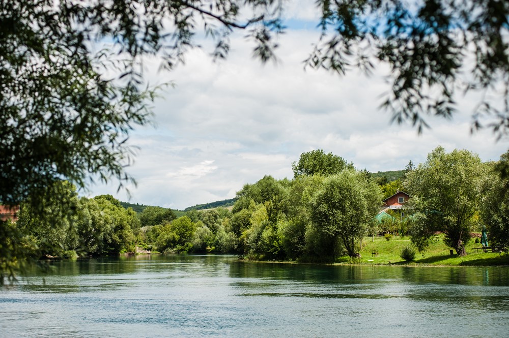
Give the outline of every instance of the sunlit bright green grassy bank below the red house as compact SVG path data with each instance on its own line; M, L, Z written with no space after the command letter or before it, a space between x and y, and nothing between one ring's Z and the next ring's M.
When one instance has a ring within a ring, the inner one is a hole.
M397 265L509 265L509 255L498 253L475 252L473 248L481 247L480 243L470 240L466 245L467 255L459 257L450 255L450 248L446 247L440 239L432 243L425 251L416 251L415 259L412 262L405 262L401 257L401 250L411 245L410 237L393 236L386 240L384 237L365 237L362 240L361 264L397 264ZM372 251L378 255L372 255ZM337 263L350 263L348 257L337 260Z

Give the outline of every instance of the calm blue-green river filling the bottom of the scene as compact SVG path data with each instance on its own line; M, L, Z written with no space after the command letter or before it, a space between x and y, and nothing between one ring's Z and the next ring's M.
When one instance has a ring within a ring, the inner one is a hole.
M509 268L56 261L0 290L1 337L503 337Z

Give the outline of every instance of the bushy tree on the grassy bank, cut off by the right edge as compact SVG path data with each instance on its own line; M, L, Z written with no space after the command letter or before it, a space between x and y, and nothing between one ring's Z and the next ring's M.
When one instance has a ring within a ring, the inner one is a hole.
M483 187L482 219L491 245L509 249L509 150L494 163Z

